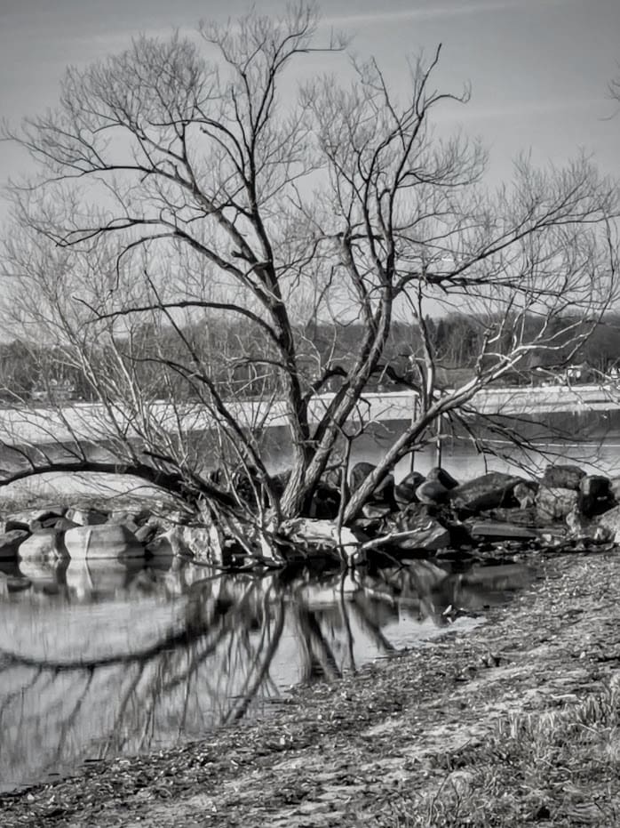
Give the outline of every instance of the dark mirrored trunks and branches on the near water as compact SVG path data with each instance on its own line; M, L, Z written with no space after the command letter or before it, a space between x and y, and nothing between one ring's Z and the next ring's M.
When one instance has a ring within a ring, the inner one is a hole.
M396 651L383 628L397 620L400 607L437 620L437 607L454 595L448 573L424 561L365 575L353 595L339 579L236 575L195 583L182 630L164 631L154 646L134 654L88 661L0 654L0 726L7 734L0 760L13 776L29 762L31 778L92 753L93 744L99 756L111 756L148 749L153 739L170 743L181 733L203 734L280 692L270 671L291 626L302 680L336 679L343 666L355 668L369 643L388 655ZM501 589L509 589L504 581ZM466 592L478 606L498 589L476 575ZM290 673L283 678L295 680ZM36 728L36 739L27 728Z

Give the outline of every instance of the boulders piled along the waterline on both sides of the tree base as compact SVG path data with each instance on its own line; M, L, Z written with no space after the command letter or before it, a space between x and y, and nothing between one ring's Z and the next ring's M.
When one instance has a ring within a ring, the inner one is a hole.
M350 491L373 469L370 463L354 466ZM362 514L337 531L339 501L339 487L323 481L309 515L291 533L283 562L299 558L305 537L317 556L339 554L349 565L374 553L410 558L457 552L484 539L536 541L554 535L620 543L620 478L588 475L571 465L548 466L537 480L491 471L459 483L441 468L426 477L413 471L399 483L387 475ZM216 538L212 526L184 525L179 515L163 518L148 509L49 506L9 515L0 529L0 562L143 558L162 537L172 553L191 559L234 566L248 558L247 549Z

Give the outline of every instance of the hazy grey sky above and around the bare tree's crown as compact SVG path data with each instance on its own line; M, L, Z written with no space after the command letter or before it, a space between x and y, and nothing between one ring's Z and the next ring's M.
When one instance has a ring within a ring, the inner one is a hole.
M225 21L247 8L241 0L0 0L0 115L14 123L53 106L68 63L122 51L139 33L195 28L201 17ZM441 84L458 92L468 82L473 92L466 109L446 112L445 126L481 136L494 180L510 174L518 152L560 164L580 147L601 171L620 174L620 114L607 92L620 73L620 0L333 0L322 11L397 87L406 55L441 42ZM0 145L0 181L25 164Z

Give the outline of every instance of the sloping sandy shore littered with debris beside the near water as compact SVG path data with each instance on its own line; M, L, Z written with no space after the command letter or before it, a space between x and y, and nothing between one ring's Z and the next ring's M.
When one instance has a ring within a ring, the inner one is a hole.
M618 551L518 557L535 567L537 579L466 635L448 631L357 675L293 689L266 719L201 742L0 795L0 824L346 828L362 816L364 824L394 828L435 824L418 823L416 815L431 802L439 808L456 784L469 785L475 800L470 777L479 772L478 754L497 743L506 723L569 711L608 692L619 672ZM614 760L617 780L620 745ZM516 828L538 807L551 815L538 824L576 824L573 800L589 797L602 807L599 779L577 783L568 799L560 788L521 797L513 822L502 824ZM611 805L620 807L620 782L605 785ZM615 824L609 814L588 824Z

